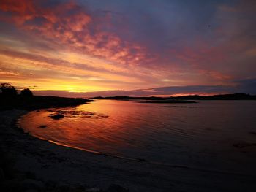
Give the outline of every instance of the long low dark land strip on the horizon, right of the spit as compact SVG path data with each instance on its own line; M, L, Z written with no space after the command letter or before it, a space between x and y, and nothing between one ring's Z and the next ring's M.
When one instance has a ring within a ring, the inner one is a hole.
M157 97L157 96L142 96L142 97L132 97L132 96L108 96L102 97L97 96L93 99L113 99L113 100L151 100L151 101L163 101L163 100L256 100L256 96L252 96L245 93L234 93L234 94L221 94L213 96L199 96L199 95L189 95L189 96L170 96L170 97Z

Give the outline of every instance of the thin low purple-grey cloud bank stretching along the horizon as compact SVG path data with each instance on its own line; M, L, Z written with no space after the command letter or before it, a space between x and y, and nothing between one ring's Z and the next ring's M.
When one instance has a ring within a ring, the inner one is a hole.
M252 91L254 90L254 91ZM240 80L235 85L193 85L193 86L172 86L151 89L138 89L131 91L93 91L70 93L67 91L35 91L38 95L94 97L94 96L176 96L183 94L213 95L219 93L252 93L256 94L256 79Z

